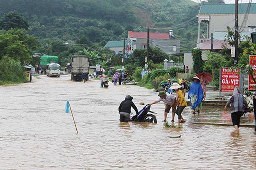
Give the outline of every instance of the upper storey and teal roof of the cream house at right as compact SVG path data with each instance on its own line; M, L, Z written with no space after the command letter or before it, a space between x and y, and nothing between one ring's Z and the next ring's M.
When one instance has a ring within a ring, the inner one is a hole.
M238 4L239 31L249 32L249 26L256 26L256 3ZM234 31L235 4L202 4L198 12L198 43L204 43L210 38L211 33L216 31L220 34L227 31L229 26ZM205 33L200 31L200 26L206 25ZM245 33L247 34L247 33ZM216 35L216 33L215 33ZM214 38L214 37L213 37Z

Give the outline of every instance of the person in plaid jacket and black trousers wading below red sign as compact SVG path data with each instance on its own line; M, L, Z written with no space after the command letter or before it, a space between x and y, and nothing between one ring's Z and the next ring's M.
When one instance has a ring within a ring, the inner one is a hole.
M244 100L244 96L240 94L238 87L235 87L233 95L231 96L231 98L229 98L224 109L226 110L227 107L230 106L230 104L231 104L230 113L231 113L232 123L236 131L238 131L238 128L240 126L240 118L244 113L244 106L247 106L247 103Z

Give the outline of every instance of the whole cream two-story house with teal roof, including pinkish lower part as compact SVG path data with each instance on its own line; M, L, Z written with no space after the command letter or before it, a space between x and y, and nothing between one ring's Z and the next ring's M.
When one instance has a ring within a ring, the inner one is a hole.
M211 50L218 51L225 47L231 50L232 46L224 41L227 38L229 26L235 31L235 4L202 4L197 14L198 17L198 39L196 48L202 50L202 59L207 60L206 53ZM206 26L202 31L201 26ZM250 37L249 27L256 26L256 3L238 4L238 26L239 41ZM211 34L213 43L211 44ZM184 54L184 64L190 69L193 67L191 53Z

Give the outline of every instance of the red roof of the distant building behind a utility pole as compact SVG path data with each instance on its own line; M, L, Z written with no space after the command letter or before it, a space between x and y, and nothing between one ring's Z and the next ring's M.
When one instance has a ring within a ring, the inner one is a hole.
M128 31L129 37L130 38L147 38L147 33L146 32L133 32L133 31ZM168 33L149 33L150 39L170 39Z

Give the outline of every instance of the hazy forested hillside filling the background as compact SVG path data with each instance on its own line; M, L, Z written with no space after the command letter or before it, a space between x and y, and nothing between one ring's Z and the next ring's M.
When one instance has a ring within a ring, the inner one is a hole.
M199 4L190 0L1 0L0 16L25 16L28 33L65 42L98 44L128 37L128 31L168 32L182 41L181 51L196 45Z

